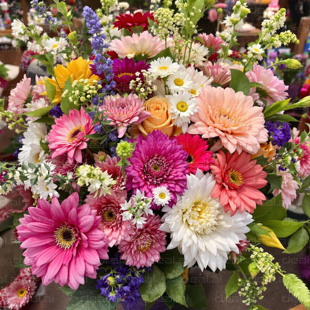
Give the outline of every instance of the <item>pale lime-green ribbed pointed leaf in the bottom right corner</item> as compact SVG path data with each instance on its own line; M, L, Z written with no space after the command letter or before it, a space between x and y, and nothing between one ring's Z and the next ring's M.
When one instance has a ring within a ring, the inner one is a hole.
M310 291L307 286L295 274L283 275L283 285L296 297L306 308L310 307Z

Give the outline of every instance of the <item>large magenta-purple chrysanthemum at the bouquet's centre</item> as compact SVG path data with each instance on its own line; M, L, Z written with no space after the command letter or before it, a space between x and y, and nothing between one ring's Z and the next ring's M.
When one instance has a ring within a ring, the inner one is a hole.
M159 130L154 130L144 138L138 135L135 150L126 167L127 190L137 189L146 197L152 197L152 189L166 186L171 193L169 206L176 202L177 196L186 189L186 159L188 153L178 144L177 139L170 139ZM153 208L158 208L152 204Z

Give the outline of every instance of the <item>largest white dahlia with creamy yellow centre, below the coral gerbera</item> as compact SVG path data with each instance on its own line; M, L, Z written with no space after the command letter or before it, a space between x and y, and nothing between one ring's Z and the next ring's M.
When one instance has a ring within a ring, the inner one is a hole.
M184 267L196 262L201 270L210 267L225 268L228 253L239 253L237 244L246 238L250 229L246 226L252 215L238 210L235 215L224 212L218 199L211 198L215 185L214 176L197 169L195 175L187 175L187 188L177 203L163 207L161 230L170 232L171 242L167 250L178 247L184 255Z

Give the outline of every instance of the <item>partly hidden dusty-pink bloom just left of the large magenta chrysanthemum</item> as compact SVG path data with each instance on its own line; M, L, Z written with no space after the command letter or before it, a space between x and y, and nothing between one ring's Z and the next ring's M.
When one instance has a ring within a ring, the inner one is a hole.
M125 188L127 180L127 175L123 176L122 174L122 166L116 166L118 162L117 157L111 158L109 155L106 155L103 162L95 162L95 166L100 167L103 172L107 171L108 175L112 175L112 179L117 182L111 186L111 189L115 192L121 192Z

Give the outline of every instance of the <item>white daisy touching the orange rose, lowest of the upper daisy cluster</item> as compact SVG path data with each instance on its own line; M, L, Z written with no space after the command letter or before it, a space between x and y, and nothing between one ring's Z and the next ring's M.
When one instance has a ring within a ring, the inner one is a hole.
M196 99L191 98L191 94L188 92L173 93L166 97L169 99L172 118L175 119L174 124L177 127L182 127L182 131L185 133L190 123L190 116L198 112Z

